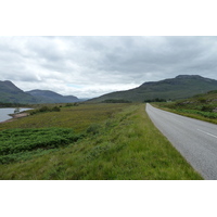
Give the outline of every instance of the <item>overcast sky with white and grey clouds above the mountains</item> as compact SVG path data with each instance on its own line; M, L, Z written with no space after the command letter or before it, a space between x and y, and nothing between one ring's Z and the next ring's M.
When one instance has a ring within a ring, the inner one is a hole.
M217 37L0 37L0 80L78 98L177 75L217 79Z

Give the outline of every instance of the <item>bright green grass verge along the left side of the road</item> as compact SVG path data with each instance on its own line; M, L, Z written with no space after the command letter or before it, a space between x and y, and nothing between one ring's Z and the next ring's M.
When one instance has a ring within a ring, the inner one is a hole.
M82 112L76 112L76 108L73 111L65 108L65 112L80 115L78 115L76 124L71 123L69 126L75 127L77 131L86 132L86 137L42 156L0 165L0 179L202 179L169 141L154 127L144 111L144 104L123 104L118 106L116 104L106 104L106 106L97 104L82 105L79 108ZM77 107L77 110L79 108ZM64 111L61 111L61 113L64 113ZM88 113L88 115L84 113ZM40 114L41 116L42 114ZM26 119L31 118L34 116L29 116ZM66 122L67 118L65 122L61 119L62 117L59 118L62 127L68 127L67 123L69 122ZM86 120L86 118L89 118L89 120ZM80 119L86 124L79 122ZM34 123L31 122L26 120L26 124L23 122L21 124L22 126L41 127L41 124L35 123L33 125ZM15 123L18 123L18 120L13 124ZM55 122L51 123L46 123L46 127L48 125L55 125ZM80 126L76 127L76 125Z

